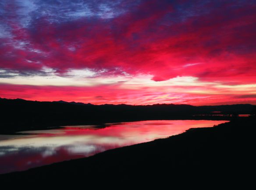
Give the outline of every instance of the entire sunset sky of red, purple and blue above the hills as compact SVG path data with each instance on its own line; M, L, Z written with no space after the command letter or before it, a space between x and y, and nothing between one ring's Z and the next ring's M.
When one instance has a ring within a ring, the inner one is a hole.
M256 0L1 0L0 97L256 104Z

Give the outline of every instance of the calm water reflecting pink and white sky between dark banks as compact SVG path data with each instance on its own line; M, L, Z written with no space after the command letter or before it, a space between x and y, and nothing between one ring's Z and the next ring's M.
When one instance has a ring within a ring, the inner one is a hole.
M65 126L0 135L0 173L20 171L53 162L88 157L113 148L180 134L189 128L213 127L226 121L155 120Z

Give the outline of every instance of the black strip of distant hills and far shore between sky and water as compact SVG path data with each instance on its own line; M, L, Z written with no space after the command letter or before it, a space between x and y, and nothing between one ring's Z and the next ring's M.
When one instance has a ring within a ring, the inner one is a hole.
M96 124L106 127L104 123L136 120L231 120L231 115L252 114L255 106L92 105L81 102L38 102L0 98L0 110L0 134L11 134L15 131L41 130L64 125ZM226 116L216 116L218 114Z

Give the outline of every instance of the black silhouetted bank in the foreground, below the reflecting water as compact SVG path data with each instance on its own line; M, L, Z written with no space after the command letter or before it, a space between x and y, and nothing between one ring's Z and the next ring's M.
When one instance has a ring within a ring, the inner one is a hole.
M168 183L171 187L177 179L182 183L192 179L195 183L210 181L206 186L210 187L220 179L227 182L242 164L236 162L236 155L241 155L242 151L235 146L235 136L238 132L241 137L245 136L246 129L255 126L253 117L235 118L215 127L194 128L183 134L116 148L88 158L3 174L0 181L85 186L122 183L120 187Z

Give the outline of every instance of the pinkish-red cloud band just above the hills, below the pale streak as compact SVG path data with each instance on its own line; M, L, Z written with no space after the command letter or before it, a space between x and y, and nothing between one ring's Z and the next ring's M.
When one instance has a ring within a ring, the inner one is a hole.
M222 89L218 94L187 93L189 90L202 90L203 87L158 87L124 89L119 85L100 85L94 87L71 87L71 86L29 86L0 84L0 97L10 99L27 99L39 101L75 101L92 104L132 104L147 105L155 103L175 103L201 105L220 105L235 103L255 104L255 95L245 93L232 94L230 89ZM181 92L172 93L173 89L179 88ZM213 87L210 88L212 90ZM227 101L228 100L228 101Z

